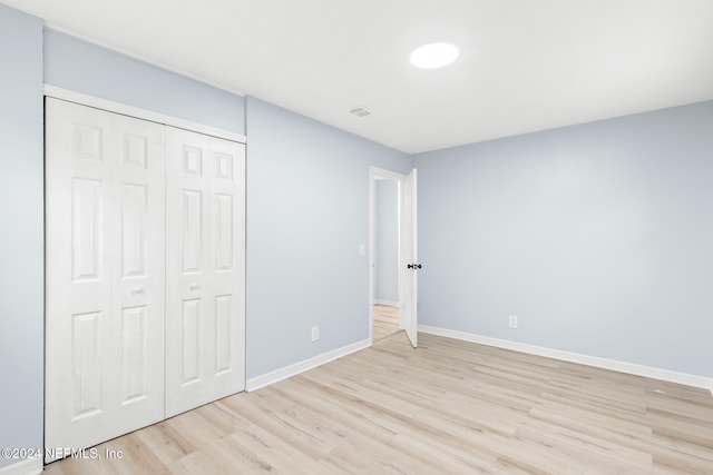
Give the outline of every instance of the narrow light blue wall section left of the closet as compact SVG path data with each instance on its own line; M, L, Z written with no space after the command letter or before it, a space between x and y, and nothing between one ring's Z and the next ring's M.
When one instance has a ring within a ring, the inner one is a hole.
M0 447L42 447L42 22L1 3L0 69Z

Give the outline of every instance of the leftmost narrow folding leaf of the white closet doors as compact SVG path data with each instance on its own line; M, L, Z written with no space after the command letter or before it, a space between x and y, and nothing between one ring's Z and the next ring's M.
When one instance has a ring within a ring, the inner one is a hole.
M46 123L46 445L86 447L110 420L111 120L48 100Z

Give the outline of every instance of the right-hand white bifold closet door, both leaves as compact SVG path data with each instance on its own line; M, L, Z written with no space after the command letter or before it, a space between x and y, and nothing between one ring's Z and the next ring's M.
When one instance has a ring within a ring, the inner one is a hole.
M245 388L245 146L168 129L166 416Z

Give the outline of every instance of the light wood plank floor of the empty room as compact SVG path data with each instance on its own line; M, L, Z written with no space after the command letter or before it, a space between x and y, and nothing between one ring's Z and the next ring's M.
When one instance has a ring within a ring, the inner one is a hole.
M713 397L403 331L48 474L713 474Z

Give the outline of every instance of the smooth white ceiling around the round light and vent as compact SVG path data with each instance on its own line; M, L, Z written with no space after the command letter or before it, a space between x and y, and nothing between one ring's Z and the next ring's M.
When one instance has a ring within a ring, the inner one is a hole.
M711 0L0 1L407 152L713 99Z

